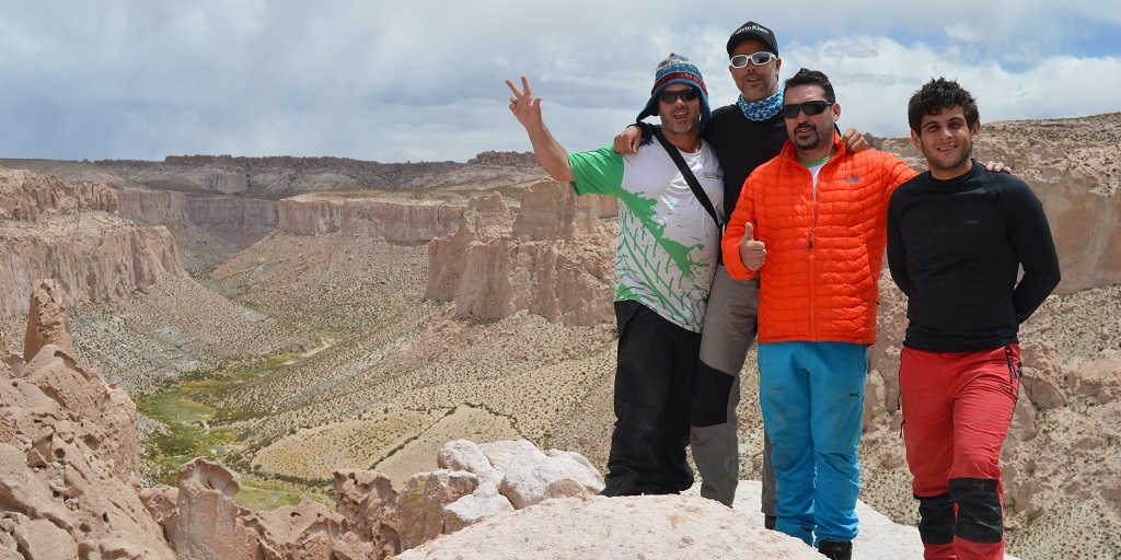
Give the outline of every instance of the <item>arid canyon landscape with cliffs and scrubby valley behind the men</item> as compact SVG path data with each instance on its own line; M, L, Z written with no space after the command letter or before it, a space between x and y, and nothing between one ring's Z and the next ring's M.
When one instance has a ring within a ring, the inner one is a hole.
M871 141L921 168L906 139ZM986 123L976 148L1044 202L1064 271L1021 328L1009 552L1117 558L1121 114ZM75 355L137 402L148 484L203 457L243 476L248 506L276 507L324 500L340 469L400 487L455 439L606 463L614 205L572 196L529 155L0 160L0 174L8 342L22 347L34 281L57 278ZM905 306L881 282L861 500L915 524L895 380ZM740 417L756 479L754 383Z

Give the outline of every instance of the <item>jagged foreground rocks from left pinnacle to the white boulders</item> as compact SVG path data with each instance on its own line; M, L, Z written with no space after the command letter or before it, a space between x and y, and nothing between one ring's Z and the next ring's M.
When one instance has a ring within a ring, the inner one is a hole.
M335 511L304 498L252 512L238 477L196 458L176 488L141 488L136 405L80 367L58 288L31 297L28 360L0 328L0 554L90 559L382 559L502 512L590 496L599 472L577 454L528 441L447 444L441 470L399 495L388 478L335 473ZM33 355L34 354L34 355Z

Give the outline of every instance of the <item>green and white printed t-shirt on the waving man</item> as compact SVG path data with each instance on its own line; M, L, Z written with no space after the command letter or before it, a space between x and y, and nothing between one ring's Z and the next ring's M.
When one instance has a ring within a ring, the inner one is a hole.
M707 142L680 152L724 220L723 170ZM700 333L720 254L720 230L660 143L622 156L610 146L568 156L577 195L619 198L615 301L634 300Z

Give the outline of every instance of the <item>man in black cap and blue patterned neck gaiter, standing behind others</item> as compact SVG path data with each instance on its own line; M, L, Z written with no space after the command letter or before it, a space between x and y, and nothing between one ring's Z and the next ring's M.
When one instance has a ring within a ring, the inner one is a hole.
M728 39L728 71L740 90L735 103L713 111L701 138L712 144L724 168L724 200L740 197L743 181L757 167L778 156L787 140L778 75L782 59L767 27L748 21ZM648 133L652 133L647 131ZM633 153L642 133L630 128L615 137L615 150ZM852 151L868 147L855 129L843 139ZM731 506L740 479L735 409L740 371L756 337L758 279L738 281L716 269L701 338L701 361L693 393L689 447L701 473L701 495ZM763 433L761 510L775 529L775 470L770 439Z

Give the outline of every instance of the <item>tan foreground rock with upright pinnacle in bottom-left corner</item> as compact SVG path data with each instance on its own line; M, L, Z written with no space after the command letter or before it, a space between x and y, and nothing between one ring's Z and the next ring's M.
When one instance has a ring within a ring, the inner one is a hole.
M37 300L48 301L41 288ZM36 309L59 326L63 309ZM137 493L136 407L75 364L65 328L0 361L0 550L24 558L174 559ZM3 338L0 335L0 338ZM15 366L12 366L15 365Z

